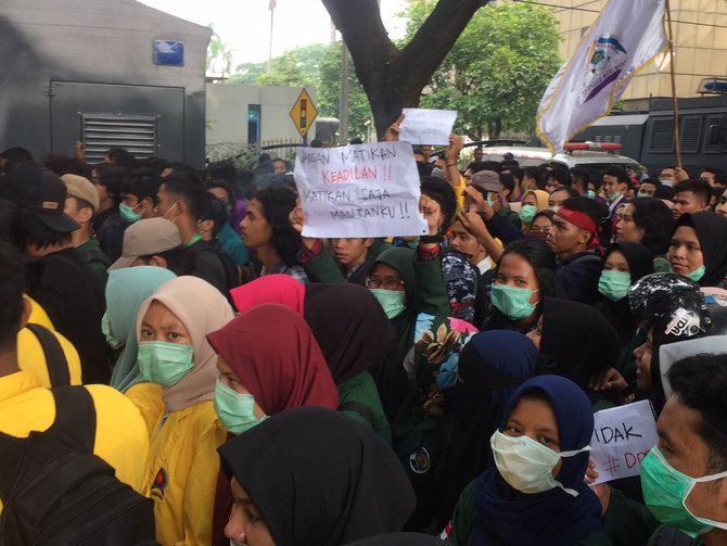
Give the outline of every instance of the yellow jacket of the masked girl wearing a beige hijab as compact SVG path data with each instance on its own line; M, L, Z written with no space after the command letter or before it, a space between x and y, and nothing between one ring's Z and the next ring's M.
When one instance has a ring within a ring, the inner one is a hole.
M142 493L154 500L156 539L163 546L208 546L217 447L227 436L212 401L165 412L152 435Z

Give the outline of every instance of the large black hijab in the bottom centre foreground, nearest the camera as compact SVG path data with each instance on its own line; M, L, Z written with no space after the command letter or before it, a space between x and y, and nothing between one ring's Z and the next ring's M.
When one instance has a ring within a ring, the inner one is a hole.
M339 546L400 531L416 504L394 453L368 427L307 406L218 448L278 546Z

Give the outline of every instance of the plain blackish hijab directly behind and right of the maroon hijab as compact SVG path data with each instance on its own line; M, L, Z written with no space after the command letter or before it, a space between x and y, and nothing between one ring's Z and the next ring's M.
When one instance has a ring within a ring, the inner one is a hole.
M303 309L336 385L375 366L392 348L394 327L364 287L311 282Z

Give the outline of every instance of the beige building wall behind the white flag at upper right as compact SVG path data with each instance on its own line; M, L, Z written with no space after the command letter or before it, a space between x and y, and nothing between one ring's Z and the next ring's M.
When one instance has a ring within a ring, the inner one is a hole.
M618 0L628 1L628 0ZM566 59L578 46L583 33L596 21L604 0L551 0L562 5L556 10L560 20L561 59ZM700 97L697 88L702 78L727 76L727 1L671 0L675 37L674 66L678 97ZM577 8L577 9L573 9ZM671 97L668 59L651 63L636 75L625 100L648 97ZM661 69L660 69L661 66Z

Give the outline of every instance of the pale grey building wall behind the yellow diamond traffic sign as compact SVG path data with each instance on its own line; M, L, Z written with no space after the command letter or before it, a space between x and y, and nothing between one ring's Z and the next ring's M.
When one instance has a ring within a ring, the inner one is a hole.
M316 102L316 88L306 88ZM260 105L260 143L285 140L303 142L290 112L301 94L299 87L260 87L207 84L207 145L219 142L246 144L247 112L251 104ZM308 139L315 138L315 122Z

